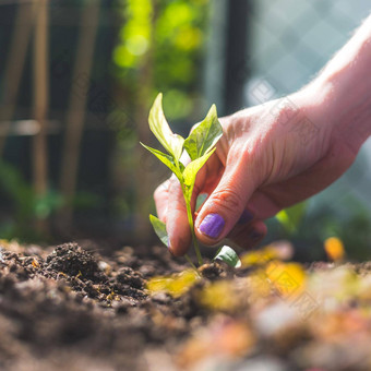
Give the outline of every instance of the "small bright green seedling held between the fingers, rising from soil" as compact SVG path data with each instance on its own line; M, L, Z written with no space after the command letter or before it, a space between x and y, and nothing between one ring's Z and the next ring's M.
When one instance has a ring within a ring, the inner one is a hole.
M161 163L164 163L178 178L185 201L188 223L192 234L194 250L199 264L203 264L199 242L194 234L194 222L191 210L191 199L194 182L198 172L205 165L210 156L215 152L215 145L223 135L223 128L218 121L216 107L212 106L206 118L190 133L187 139L172 133L163 111L163 95L158 94L149 112L149 129L155 134L159 143L167 153L148 147L141 143L146 149L153 153ZM190 156L191 161L184 165L180 160L183 151ZM169 239L166 231L166 225L156 216L149 215L149 220L156 235L168 247ZM185 259L193 266L190 259ZM224 260L227 264L237 266L240 261L236 252L229 247L219 250L215 259ZM194 266L193 266L194 267Z

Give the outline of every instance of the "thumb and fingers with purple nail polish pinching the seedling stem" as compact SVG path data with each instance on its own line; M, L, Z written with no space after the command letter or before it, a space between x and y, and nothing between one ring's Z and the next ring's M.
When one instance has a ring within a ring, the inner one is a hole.
M196 237L204 244L216 244L227 237L240 217L242 227L238 226L232 236L242 247L256 244L266 234L265 225L261 220L252 220L253 216L244 211L255 189L252 167L247 164L249 158L239 151L234 153L235 158L229 153L225 167L216 156L212 156L196 178L192 212L199 193L210 194L195 220ZM224 171L220 172L222 169ZM246 169L250 169L250 172ZM171 177L163 184L163 189L156 190L155 200L159 218L166 222L170 251L177 256L183 255L192 236L179 180Z

